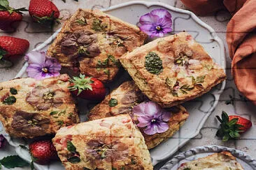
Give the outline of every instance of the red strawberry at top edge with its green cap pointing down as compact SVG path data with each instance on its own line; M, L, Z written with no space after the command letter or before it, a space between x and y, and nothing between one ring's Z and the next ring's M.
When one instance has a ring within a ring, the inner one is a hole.
M31 0L29 3L29 15L36 22L53 24L59 18L59 10L52 1Z

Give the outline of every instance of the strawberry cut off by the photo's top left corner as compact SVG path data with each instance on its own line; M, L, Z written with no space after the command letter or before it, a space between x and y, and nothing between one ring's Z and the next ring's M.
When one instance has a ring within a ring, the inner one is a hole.
M25 8L11 8L7 0L0 1L0 29L8 31L12 29L13 22L22 20L22 13L20 11L27 11Z

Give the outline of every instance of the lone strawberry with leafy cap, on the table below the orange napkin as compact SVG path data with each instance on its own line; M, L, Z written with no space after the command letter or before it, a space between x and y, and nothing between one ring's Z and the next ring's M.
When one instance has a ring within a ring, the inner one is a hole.
M222 115L216 116L220 121L220 129L216 135L222 137L222 141L228 141L229 139L239 139L242 132L246 132L252 127L252 122L241 116L228 116L225 111L222 111Z

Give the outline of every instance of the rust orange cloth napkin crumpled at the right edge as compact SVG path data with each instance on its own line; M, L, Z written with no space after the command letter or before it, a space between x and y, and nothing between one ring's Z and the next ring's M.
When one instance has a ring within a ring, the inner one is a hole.
M227 45L236 87L256 105L256 0L181 0L197 15L227 8Z

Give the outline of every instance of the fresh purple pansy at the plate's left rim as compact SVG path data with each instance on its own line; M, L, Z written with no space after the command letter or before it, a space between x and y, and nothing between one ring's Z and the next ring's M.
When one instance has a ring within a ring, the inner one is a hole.
M27 74L34 79L45 79L48 77L56 77L62 66L57 59L50 58L45 52L32 51L25 56L25 60L29 62Z

